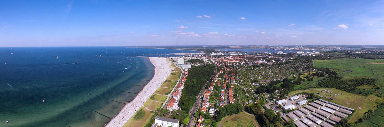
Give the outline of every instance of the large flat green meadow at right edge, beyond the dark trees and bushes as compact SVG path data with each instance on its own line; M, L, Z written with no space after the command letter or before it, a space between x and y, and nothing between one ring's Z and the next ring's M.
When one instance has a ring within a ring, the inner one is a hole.
M367 77L384 81L384 59L313 60L315 67L334 68L344 78Z

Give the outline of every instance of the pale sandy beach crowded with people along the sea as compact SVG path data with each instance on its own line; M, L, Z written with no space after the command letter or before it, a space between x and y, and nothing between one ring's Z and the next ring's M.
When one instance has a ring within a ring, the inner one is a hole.
M113 119L104 127L122 127L149 97L161 86L161 84L170 75L172 68L167 58L149 57L151 63L155 66L155 75L151 81L137 94L136 98L127 103Z

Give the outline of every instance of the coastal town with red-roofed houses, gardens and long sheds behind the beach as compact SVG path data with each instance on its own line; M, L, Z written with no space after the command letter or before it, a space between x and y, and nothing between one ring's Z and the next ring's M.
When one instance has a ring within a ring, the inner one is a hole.
M349 55L354 54L362 53ZM238 126L258 127L274 123L276 126L333 127L346 124L345 119L358 119L354 112L361 114L361 109L356 111L356 107L335 101L338 99L334 98L339 98L341 94L339 90L313 85L327 75L335 75L328 68L313 66L313 57L324 56L332 58L335 55L317 51L247 54L215 50L205 54L168 57L180 69L179 80L174 82L163 106L154 111L153 116L156 117L152 117L154 120L148 125L226 127L225 124L233 124L227 119L242 116L247 119L234 122ZM344 54L344 57L351 56ZM194 70L197 68L212 73L196 73ZM200 85L193 86L197 75L207 78L203 78ZM262 122L258 119L270 118L258 118L259 115L279 119Z

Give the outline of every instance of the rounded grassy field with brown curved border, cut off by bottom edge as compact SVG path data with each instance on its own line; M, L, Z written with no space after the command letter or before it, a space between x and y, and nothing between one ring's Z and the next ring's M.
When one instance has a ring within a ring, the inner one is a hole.
M244 112L224 117L218 123L219 127L258 127L255 117Z

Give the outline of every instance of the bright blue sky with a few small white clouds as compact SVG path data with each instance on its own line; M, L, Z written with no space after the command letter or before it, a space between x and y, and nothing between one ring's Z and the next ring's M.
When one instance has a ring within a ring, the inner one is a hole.
M228 44L384 44L384 1L0 2L0 46Z

